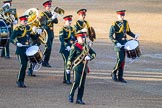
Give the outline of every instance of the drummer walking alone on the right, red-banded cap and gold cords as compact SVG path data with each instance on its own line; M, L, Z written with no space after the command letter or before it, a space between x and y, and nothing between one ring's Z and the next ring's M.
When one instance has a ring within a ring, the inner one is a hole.
M118 21L116 21L111 27L109 31L109 38L115 45L114 50L117 55L116 65L111 73L112 79L114 81L119 81L122 83L127 83L127 81L123 78L123 71L125 65L125 49L123 45L127 42L127 36L137 38L139 35L131 32L128 21L124 20L125 10L117 11ZM115 34L115 35L114 35ZM118 73L118 77L117 77Z

